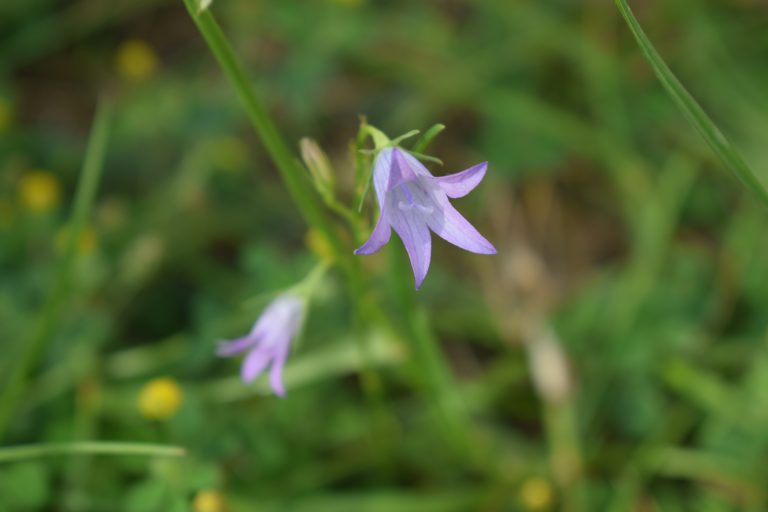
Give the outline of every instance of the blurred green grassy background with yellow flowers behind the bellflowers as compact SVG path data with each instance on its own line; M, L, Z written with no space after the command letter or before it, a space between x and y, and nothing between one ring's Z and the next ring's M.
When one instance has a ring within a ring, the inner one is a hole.
M636 0L651 40L757 169L768 4ZM416 296L471 415L441 435L409 340L363 391L333 272L287 368L244 386L216 340L324 248L182 2L0 5L0 385L41 321L88 129L103 180L62 321L6 445L119 440L183 459L0 462L0 511L768 509L768 215L656 81L607 0L216 0L254 88L343 197L358 116L447 125L436 174L494 257L434 245ZM364 260L397 315L387 253ZM159 379L159 380L158 380Z

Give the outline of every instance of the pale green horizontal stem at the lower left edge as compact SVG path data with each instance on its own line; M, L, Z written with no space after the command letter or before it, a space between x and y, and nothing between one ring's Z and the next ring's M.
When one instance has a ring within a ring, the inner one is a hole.
M144 443L83 441L77 443L48 443L0 448L0 463L51 457L55 455L147 455L154 457L183 457L186 450L179 446Z

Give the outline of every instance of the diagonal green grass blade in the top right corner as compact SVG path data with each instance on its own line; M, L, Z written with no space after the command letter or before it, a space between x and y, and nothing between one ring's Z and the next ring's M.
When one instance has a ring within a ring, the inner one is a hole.
M640 23L635 18L627 4L627 0L615 0L616 6L627 22L629 29L637 40L637 44L651 64L654 73L658 77L664 89L672 97L674 102L683 111L688 121L693 125L704 140L709 144L718 157L728 166L736 177L751 190L761 201L768 204L768 190L761 183L752 168L744 161L736 148L723 135L717 125L704 112L701 105L691 96L680 80L672 73L669 66L661 58L651 41L646 36Z

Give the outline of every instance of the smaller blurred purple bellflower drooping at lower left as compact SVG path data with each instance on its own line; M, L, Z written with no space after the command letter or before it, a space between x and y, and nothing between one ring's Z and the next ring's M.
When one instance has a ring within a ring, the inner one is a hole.
M267 306L248 335L223 342L216 352L222 357L248 353L240 371L245 382L253 381L271 363L269 383L275 394L284 396L283 366L303 317L304 300L281 295Z

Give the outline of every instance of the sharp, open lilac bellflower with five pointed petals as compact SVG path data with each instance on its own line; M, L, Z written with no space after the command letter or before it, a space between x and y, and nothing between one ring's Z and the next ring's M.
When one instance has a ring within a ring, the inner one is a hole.
M381 215L371 237L355 254L372 254L389 242L392 229L405 245L421 286L432 255L430 230L444 240L478 254L496 249L456 211L448 198L464 197L485 176L488 162L466 171L434 177L416 158L399 148L382 149L373 167L373 186Z

